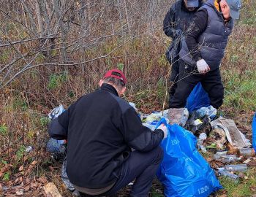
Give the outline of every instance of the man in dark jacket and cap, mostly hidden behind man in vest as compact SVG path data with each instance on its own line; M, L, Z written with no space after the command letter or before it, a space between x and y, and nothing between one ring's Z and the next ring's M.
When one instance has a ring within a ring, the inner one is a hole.
M178 81L178 52L180 50L181 34L187 34L189 23L197 12L197 9L203 5L203 0L178 0L174 3L163 22L163 30L165 34L172 38L172 43L168 48L167 53L172 53L176 58L170 58L167 54L167 59L171 65L170 74L170 99L173 97ZM170 50L170 52L169 52ZM169 100L170 101L170 100Z

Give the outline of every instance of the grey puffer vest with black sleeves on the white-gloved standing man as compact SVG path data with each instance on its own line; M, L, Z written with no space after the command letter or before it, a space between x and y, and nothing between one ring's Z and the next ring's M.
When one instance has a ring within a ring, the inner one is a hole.
M194 65L203 58L211 70L219 69L233 29L233 20L225 21L214 0L208 0L195 14L190 29L185 40L187 48L185 44L181 47L180 57Z

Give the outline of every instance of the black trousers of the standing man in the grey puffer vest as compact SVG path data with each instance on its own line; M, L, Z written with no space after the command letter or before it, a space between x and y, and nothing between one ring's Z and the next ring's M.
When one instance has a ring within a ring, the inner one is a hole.
M199 74L196 67L188 66L179 60L178 84L174 96L170 99L170 108L185 107L187 97L192 92L197 82L201 82L211 101L211 105L219 108L223 103L224 88L219 69L214 69L206 74Z

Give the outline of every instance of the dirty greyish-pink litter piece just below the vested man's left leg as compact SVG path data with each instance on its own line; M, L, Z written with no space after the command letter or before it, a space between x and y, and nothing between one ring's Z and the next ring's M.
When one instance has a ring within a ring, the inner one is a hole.
M170 120L170 125L177 124L184 126L189 118L189 111L187 108L170 108L167 118Z

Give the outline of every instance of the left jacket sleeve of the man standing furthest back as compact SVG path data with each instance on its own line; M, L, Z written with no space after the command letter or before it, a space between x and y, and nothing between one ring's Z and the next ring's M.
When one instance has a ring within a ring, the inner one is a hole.
M165 15L165 19L163 21L163 31L165 31L166 36L170 36L173 38L173 34L176 31L175 29L175 12L173 7L170 7L169 11Z

